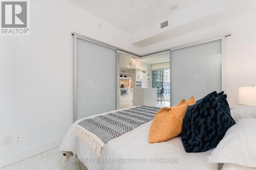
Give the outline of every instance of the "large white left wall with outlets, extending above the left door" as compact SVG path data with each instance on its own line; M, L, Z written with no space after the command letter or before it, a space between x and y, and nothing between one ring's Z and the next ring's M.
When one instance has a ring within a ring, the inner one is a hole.
M30 23L30 36L0 37L0 167L57 147L72 125L71 31L138 52L129 34L68 1L30 1ZM15 133L22 141L4 146Z

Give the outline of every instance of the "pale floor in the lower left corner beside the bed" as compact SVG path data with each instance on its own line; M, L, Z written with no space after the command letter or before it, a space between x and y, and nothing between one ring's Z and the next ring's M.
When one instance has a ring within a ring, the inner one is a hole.
M0 168L1 170L78 170L75 158L70 158L68 163L61 163L64 156L58 148L35 155L23 161Z

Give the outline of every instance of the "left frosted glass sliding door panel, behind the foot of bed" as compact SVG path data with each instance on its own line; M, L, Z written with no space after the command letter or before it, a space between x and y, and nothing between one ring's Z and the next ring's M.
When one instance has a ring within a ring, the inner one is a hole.
M75 121L116 109L116 50L74 38Z

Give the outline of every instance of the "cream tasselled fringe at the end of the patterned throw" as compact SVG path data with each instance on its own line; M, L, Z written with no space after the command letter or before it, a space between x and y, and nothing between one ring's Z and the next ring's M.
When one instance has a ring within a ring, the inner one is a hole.
M101 156L101 149L104 147L105 143L102 142L98 136L80 125L75 126L74 133L75 136L82 140L83 143L89 144L93 151L97 153L98 157Z

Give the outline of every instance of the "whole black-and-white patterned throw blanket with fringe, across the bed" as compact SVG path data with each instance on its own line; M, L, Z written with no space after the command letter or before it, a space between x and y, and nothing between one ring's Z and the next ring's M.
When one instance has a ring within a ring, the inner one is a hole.
M158 107L137 106L83 119L75 126L75 136L87 143L100 157L101 149L111 139L152 120Z

